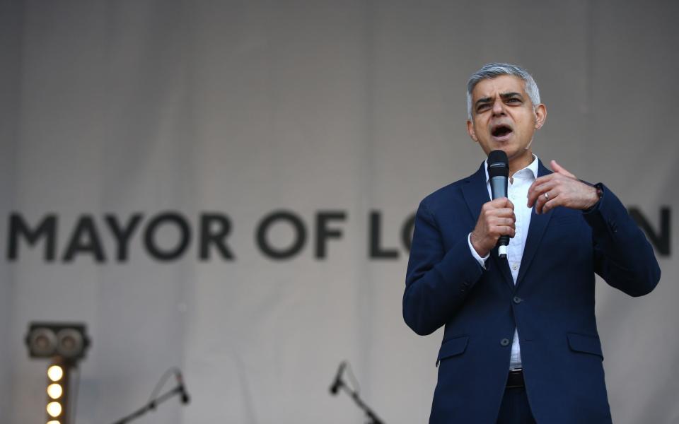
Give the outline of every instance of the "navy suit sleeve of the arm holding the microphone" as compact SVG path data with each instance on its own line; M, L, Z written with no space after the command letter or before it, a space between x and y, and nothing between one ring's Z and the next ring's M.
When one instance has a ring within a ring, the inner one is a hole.
M467 233L446 252L434 216L424 204L415 228L403 294L403 319L417 334L431 334L462 305L483 269L470 252Z

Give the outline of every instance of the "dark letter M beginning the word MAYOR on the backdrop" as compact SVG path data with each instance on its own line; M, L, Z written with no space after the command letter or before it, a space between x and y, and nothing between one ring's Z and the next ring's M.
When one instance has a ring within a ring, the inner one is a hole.
M57 240L57 216L47 215L40 221L37 228L30 228L18 213L9 216L9 238L7 259L16 261L19 257L19 238L23 238L29 246L35 245L40 239L46 238L45 261L54 260L54 248Z

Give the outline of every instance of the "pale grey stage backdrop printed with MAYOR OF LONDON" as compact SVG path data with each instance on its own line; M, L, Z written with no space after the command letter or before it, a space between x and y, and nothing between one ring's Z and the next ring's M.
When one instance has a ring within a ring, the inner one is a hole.
M615 423L679 420L672 169L679 6L666 1L0 1L0 414L45 418L28 323L81 321L79 424L425 423L441 333L404 324L419 201L477 170L465 83L535 76L533 144L632 210L663 276L598 281ZM634 249L633 246L629 247ZM141 421L140 421L141 422Z

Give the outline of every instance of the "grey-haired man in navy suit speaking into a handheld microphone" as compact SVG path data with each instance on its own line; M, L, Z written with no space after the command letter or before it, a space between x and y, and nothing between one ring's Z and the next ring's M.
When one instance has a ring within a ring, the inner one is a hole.
M594 274L640 296L660 269L607 187L533 155L546 117L528 72L483 66L468 82L467 129L484 153L507 154L509 199L490 200L483 163L419 205L403 317L417 334L445 326L429 423L611 422Z

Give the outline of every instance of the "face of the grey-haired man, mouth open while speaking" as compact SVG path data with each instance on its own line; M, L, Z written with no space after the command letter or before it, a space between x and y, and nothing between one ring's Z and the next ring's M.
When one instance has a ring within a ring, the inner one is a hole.
M511 164L532 160L530 141L546 117L545 105L533 108L521 78L502 75L479 81L472 90L472 120L467 122L467 131L486 154L504 151Z

